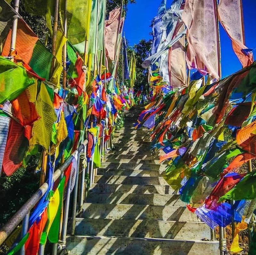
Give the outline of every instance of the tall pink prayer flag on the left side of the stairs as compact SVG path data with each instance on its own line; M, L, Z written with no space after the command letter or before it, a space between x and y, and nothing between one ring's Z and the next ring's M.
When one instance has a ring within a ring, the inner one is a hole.
M121 18L121 7L114 9L109 13L109 19L105 22L105 48L106 57L115 60L117 47L118 28Z

